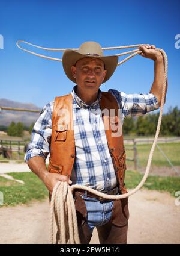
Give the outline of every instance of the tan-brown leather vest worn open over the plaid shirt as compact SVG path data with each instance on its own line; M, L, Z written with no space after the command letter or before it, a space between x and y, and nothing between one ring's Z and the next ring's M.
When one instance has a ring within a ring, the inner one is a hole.
M126 193L124 187L125 150L122 136L122 126L118 126L118 104L109 92L101 92L100 108L102 111L104 129L109 152L115 168L121 193ZM112 113L111 110L115 110ZM111 111L111 112L110 112ZM111 113L109 115L109 113ZM118 128L119 127L119 128ZM120 130L121 131L120 131ZM117 130L119 136L117 136ZM71 177L75 155L73 130L73 97L71 94L55 98L52 114L52 138L48 170L50 173L60 173Z

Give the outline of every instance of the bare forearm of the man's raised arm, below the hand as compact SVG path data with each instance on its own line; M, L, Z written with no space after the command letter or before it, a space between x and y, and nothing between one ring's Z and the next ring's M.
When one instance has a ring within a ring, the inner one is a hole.
M152 83L150 93L153 93L158 101L158 104L161 105L162 89L164 81L164 60L161 52L157 53L157 57L154 59L154 81ZM167 92L167 83L166 83L166 92ZM164 100L164 103L166 98Z

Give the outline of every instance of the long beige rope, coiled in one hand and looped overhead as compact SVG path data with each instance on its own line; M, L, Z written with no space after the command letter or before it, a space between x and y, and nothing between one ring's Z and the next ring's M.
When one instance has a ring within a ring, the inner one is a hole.
M17 41L17 47L19 47L23 51L37 55L39 57L48 58L50 60L62 61L62 59L52 58L52 57L48 57L45 55L36 54L34 52L23 49L19 46L19 42L27 43L29 45L32 45L32 44L25 42L23 40ZM108 48L102 48L102 49L103 50L126 49L126 48L139 47L142 45L145 45L145 44L108 47ZM66 50L66 49L43 48L43 47L37 46L37 45L32 45L32 46L35 46L37 48L41 48L41 49L44 49L47 51L65 51ZM77 49L73 49L73 50L77 50ZM131 192L128 192L128 193L125 193L122 195L107 195L107 194L98 192L97 190L91 189L86 186L80 186L80 185L69 186L66 182L61 182L61 181L56 183L56 185L53 189L52 199L51 199L51 203L50 203L50 243L54 243L54 238L53 238L54 225L56 225L56 228L58 230L58 233L56 236L56 243L64 243L64 244L65 243L71 243L71 244L80 243L78 227L77 227L76 209L75 209L74 199L73 199L74 189L83 189L88 192L94 193L94 195L100 196L101 198L104 198L104 199L119 200L122 198L127 198L128 196L131 196L134 193L136 193L143 186L146 179L148 178L149 169L151 167L152 156L154 153L155 145L157 143L158 135L160 133L161 119L162 119L162 115L163 115L163 105L164 105L164 99L165 99L165 95L166 95L166 81L167 81L167 55L166 55L166 52L164 52L163 49L156 48L156 50L160 51L161 54L163 55L164 80L163 80L161 106L160 106L160 114L158 117L157 130L155 133L154 142L152 143L151 151L149 152L148 163L147 163L146 171L142 178L142 181L140 181L139 185L137 187L135 187L133 190L131 190ZM139 49L135 49L133 51L122 52L120 54L116 54L118 56L122 56L125 54L131 54L124 60L120 61L118 63L118 66L125 63L125 61L136 56L137 54L141 54L141 53L142 53L142 51L139 51Z

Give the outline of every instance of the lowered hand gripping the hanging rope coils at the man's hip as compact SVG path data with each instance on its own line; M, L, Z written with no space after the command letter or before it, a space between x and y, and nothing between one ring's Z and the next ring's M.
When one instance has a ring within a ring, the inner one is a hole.
M50 172L46 172L43 181L50 194L52 194L53 188L58 181L66 181L68 184L72 184L72 181L67 176Z

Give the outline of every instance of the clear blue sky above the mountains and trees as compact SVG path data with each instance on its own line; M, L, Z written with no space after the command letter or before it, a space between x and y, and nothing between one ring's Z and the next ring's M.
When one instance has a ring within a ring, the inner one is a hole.
M0 49L0 98L43 107L55 96L71 92L74 86L65 76L62 63L21 51L17 40L47 48L79 48L82 42L92 40L102 47L149 43L164 49L169 58L164 111L170 106L180 107L180 49L175 48L175 36L180 34L179 10L179 1L0 0L0 34L4 37L4 49ZM62 57L61 52L22 46ZM153 61L138 55L117 67L101 90L148 93L153 79Z

